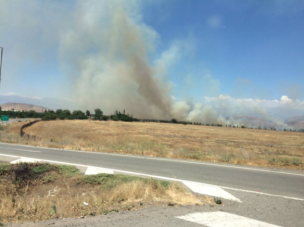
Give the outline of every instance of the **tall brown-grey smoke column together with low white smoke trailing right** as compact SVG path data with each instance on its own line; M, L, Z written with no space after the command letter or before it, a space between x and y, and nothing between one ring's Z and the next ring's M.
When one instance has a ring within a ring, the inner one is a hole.
M258 104L233 104L225 97L209 104L174 101L166 62L151 59L158 34L142 21L137 7L136 2L123 1L77 4L71 25L61 36L60 62L81 108L102 106L108 113L127 109L138 118L248 126L253 124L248 118L232 117L253 115L266 120L267 126L287 127Z

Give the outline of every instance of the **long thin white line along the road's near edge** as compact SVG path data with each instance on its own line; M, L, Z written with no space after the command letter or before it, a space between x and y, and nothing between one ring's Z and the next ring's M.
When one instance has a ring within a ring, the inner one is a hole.
M22 158L19 156L14 156L14 155L5 155L5 154L0 154L0 156L7 156L7 157L14 157L14 158ZM94 168L100 168L96 166L87 166L87 165L81 165L81 164L74 164L74 163L68 163L68 162L58 162L58 161L52 161L52 160L45 160L45 159L35 159L37 162L50 162L50 163L58 163L62 165L72 165L72 166L81 166L81 167L94 167ZM104 168L103 168L104 169ZM176 178L169 178L169 177L162 177L162 176L156 176L156 175L149 175L149 174L143 174L143 173L136 173L136 172L130 172L130 171L124 171L124 170L115 170L115 169L108 169L110 171L119 172L119 173L125 173L125 174L130 174L130 175L137 175L137 176L142 176L142 177L147 177L147 178L156 178L156 179L162 179L162 180L167 180L167 181L175 181L175 182L189 182L187 180L182 180L182 179L176 179ZM197 184L202 184L201 182L194 182L193 183ZM208 185L208 184L205 184ZM302 198L296 198L296 197L289 197L289 196L284 196L284 195L276 195L276 194L269 194L269 193L264 193L264 192L257 192L257 191L250 191L250 190L244 190L244 189L237 189L237 188L230 188L230 187L225 187L225 186L220 186L220 185L211 185L214 187L220 187L223 189L228 189L228 190L234 190L234 191L242 191L242 192L247 192L247 193L254 193L254 194L261 194L261 195L266 195L266 196L273 196L273 197L280 197L280 198L285 198L285 199L292 199L292 200L299 200L299 201L304 201ZM218 196L220 197L220 196Z

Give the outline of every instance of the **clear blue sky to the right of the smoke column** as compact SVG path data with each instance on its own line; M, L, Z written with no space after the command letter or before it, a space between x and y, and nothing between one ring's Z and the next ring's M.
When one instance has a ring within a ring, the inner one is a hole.
M195 97L204 93L199 91L201 80L210 74L220 81L220 94L279 99L292 93L290 87L301 90L304 85L303 5L303 1L176 0L144 8L143 18L161 35L160 47L192 37L194 56L185 56L171 78L179 84L191 73ZM303 99L303 92L289 95Z

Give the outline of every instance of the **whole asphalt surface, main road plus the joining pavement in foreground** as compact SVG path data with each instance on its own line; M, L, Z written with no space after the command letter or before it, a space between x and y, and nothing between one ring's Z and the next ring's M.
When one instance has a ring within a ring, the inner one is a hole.
M151 207L142 211L117 213L110 216L50 220L21 225L8 224L7 226L93 227L100 226L101 223L102 226L304 226L304 171L68 151L6 143L0 143L0 154L86 164L220 185L226 187L229 193L242 201L242 203L224 201L223 205L214 207ZM270 195L252 193L256 191ZM216 222L217 225L215 225Z

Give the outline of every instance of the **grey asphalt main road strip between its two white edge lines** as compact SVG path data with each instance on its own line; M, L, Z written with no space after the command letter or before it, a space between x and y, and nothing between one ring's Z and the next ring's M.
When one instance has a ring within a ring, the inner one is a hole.
M77 152L6 143L0 143L0 154L86 164L304 199L304 171Z

